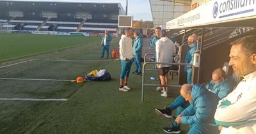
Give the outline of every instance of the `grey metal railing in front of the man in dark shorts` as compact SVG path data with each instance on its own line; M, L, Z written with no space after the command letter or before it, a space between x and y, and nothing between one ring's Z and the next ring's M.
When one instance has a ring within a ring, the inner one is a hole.
M145 62L145 57L147 57L150 54L145 54L144 56L144 64L143 64L143 68L142 68L142 85L141 85L141 102L144 101L144 87L145 86L160 86L160 87L181 87L180 85L159 85L159 84L145 84L145 71L157 71L157 70L146 70L145 66L147 66L147 64L170 64L170 65L177 65L177 66L186 66L186 65L190 65L192 66L192 64L189 63L157 63L157 62ZM177 71L177 70L170 70L170 71Z

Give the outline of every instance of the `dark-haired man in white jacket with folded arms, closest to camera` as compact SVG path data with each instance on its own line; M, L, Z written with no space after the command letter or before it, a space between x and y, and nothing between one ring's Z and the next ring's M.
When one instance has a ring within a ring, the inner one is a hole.
M256 133L256 36L232 43L229 65L244 79L219 101L214 119L221 134Z

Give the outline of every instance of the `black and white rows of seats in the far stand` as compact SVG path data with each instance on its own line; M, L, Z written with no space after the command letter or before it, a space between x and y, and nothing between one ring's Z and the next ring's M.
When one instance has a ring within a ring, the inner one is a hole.
M11 20L10 20L11 19ZM8 22L9 29L14 30L27 30L27 31L66 31L75 32L80 26L79 32L86 33L104 33L108 30L110 33L116 33L118 26L117 20L92 20L88 19L85 22L82 19L47 19L47 18L25 18L25 17L12 17L4 18L0 16L0 22ZM83 24L81 24L84 22Z

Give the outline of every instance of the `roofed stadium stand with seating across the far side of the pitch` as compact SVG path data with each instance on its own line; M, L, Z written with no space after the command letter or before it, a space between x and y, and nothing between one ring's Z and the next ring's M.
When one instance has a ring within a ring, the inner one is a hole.
M17 6L19 5L19 6ZM116 33L120 3L0 1L0 23L15 31ZM6 17L1 17L7 15ZM9 17L10 16L10 17ZM40 32L39 32L40 33Z

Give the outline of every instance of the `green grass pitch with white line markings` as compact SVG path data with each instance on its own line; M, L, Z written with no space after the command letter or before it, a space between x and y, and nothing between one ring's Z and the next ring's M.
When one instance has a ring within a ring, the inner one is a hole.
M68 99L0 100L0 133L155 134L164 133L163 127L173 121L157 115L154 108L169 105L179 95L179 90L169 89L172 97L163 98L156 87L146 87L145 102L142 103L141 77L131 74L129 86L132 90L127 93L118 91L120 61L100 59L99 37L0 34L0 40L0 67L13 64L0 68L0 78L74 79L100 68L106 68L112 77L108 82L82 84L0 80L0 98ZM114 38L111 49L118 48L118 41L119 38ZM134 65L131 71L134 71ZM158 84L157 80L150 80L152 75L157 72L147 73L146 82ZM177 83L177 77L170 82ZM182 125L181 133L186 133L188 128L188 125Z

